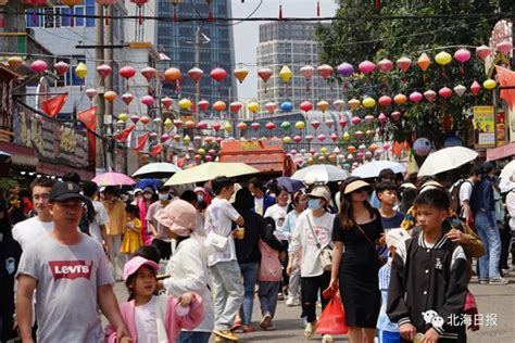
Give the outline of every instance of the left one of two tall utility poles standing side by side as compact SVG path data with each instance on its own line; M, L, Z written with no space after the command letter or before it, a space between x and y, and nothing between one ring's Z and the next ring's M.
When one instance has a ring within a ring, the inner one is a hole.
M97 15L97 18L95 20L95 30L96 30L96 36L97 36L97 47L95 48L95 59L97 60L97 66L103 64L104 61L104 51L103 51L103 7L100 5L99 3L96 3L95 5L95 14ZM112 26L112 25L110 25ZM97 105L97 117L98 117L98 125L101 131L101 136L103 136L102 131L104 128L104 114L105 114L105 100L103 99L103 94L105 92L105 84L102 77L99 77L97 75L96 79L98 86L98 96L96 100L96 105ZM97 139L97 152L96 152L96 166L97 167L102 167L106 168L108 163L106 163L106 142L104 139ZM100 150L100 151L99 151Z

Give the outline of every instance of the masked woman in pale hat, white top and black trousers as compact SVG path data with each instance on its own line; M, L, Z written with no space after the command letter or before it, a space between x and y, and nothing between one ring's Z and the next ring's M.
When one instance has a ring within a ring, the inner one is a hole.
M321 247L331 244L335 215L327 209L330 203L330 192L327 187L315 187L307 196L309 209L299 216L291 237L288 250L290 263L287 272L291 275L293 262L298 258L301 270L302 312L307 320L304 335L312 338L315 333L318 293L322 307L325 308L327 301L322 296L322 292L327 289L330 281L330 271L324 270L322 267L317 242Z

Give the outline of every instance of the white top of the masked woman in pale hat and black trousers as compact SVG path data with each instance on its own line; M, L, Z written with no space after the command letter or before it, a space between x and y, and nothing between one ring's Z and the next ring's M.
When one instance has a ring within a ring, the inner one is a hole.
M328 212L322 217L315 218L311 209L304 211L299 216L288 251L296 254L299 250L301 251L301 276L303 278L317 277L324 274L321 259L318 258L318 247L307 223L307 216L313 226L313 231L321 243L321 247L331 243L332 221L335 219L335 215Z

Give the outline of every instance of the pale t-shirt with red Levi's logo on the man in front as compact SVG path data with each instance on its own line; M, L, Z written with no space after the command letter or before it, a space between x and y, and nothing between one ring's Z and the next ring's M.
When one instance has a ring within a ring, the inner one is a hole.
M26 246L16 277L37 280L36 318L39 342L104 341L98 310L98 287L114 283L102 247L80 233L65 245L51 234Z

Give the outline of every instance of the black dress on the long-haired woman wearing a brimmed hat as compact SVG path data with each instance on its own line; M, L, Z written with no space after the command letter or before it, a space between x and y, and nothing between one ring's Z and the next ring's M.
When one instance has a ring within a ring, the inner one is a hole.
M374 220L361 225L372 242L384 232L379 212L375 216ZM332 241L344 245L339 283L347 325L374 329L381 305L377 277L380 265L375 247L357 228L343 230L338 216L335 217Z

